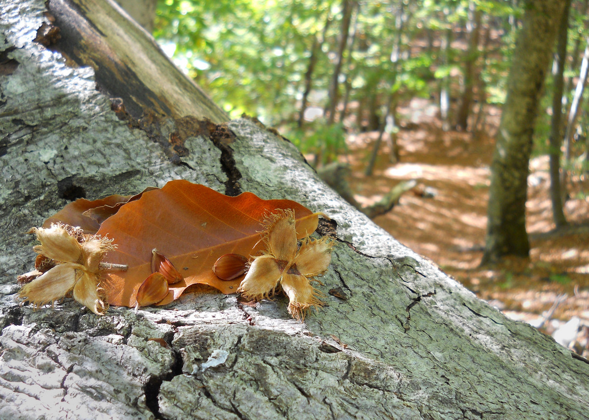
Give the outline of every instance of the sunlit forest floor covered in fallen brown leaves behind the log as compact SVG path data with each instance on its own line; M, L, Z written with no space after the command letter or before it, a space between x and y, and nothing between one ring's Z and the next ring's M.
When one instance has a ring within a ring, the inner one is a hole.
M555 230L548 157L533 158L527 202L530 258L479 267L499 111L491 111L488 132L475 138L442 131L435 114L436 108L425 100L403 108L402 119L409 122L398 135L401 161L390 163L390 146L383 141L370 177L364 171L378 133L350 136L349 153L342 160L352 169L349 181L355 199L372 204L400 181L418 181L389 213L375 217L375 223L511 318L548 334L562 332L571 319L580 322L575 350L589 356L589 178L571 177L571 198L565 205L571 226Z

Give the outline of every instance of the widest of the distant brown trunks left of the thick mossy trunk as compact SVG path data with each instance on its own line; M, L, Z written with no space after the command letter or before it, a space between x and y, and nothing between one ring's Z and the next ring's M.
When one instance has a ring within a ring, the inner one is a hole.
M471 115L472 98L475 87L475 65L478 59L478 44L481 34L482 12L477 9L473 1L469 4L469 18L466 24L468 33L468 50L464 60L464 82L462 85L462 95L458 110L456 110L456 128L466 131L468 129L468 117Z

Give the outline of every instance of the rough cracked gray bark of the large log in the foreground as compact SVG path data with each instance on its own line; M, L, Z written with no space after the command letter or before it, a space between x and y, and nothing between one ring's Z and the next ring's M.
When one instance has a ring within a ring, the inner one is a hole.
M231 143L195 132L188 153L170 160L117 118L94 70L68 67L33 42L48 23L42 0L0 6L1 419L585 418L585 359L396 242L288 141L237 120L216 126L234 134ZM161 135L178 121L162 118ZM15 277L34 260L22 232L64 197L134 193L173 178L329 214L338 244L321 289L340 287L348 299L327 295L304 324L283 298L248 307L206 291L102 317L72 299L18 305Z

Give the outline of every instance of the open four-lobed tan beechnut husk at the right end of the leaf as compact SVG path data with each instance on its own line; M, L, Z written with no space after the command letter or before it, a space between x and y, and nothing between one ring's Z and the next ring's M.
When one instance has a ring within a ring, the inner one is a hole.
M322 293L311 282L318 282L315 277L327 270L333 241L307 236L297 247L291 210L277 210L264 221L264 226L265 253L254 259L237 292L246 299L260 300L272 296L276 286L281 286L290 300L290 315L304 320L311 307L323 305L317 298Z

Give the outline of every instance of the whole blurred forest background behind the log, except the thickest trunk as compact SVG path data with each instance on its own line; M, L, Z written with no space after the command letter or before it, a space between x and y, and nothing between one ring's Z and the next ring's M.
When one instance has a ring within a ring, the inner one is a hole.
M395 193L376 223L587 357L589 1L566 3L534 123L529 256L484 265L495 137L529 2L160 0L141 24L231 117L276 128L361 209Z

